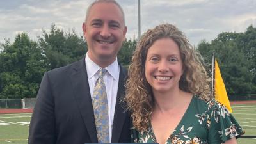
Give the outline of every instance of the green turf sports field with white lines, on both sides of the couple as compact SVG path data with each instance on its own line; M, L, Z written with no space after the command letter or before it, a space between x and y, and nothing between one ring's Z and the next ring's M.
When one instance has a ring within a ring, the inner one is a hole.
M233 113L244 128L244 136L256 136L256 104L232 105ZM31 113L0 114L0 144L28 143ZM255 144L256 139L240 138L240 144Z

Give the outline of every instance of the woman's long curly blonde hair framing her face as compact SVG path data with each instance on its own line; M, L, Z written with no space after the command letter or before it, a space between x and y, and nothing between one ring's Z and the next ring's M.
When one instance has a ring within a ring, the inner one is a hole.
M145 77L145 60L148 49L161 38L171 38L179 46L184 67L179 88L202 99L208 99L210 95L209 77L202 65L202 56L189 44L184 33L172 24L161 24L148 29L132 56L124 99L127 102L127 109L132 113L134 128L138 131L147 131L154 106L152 88Z

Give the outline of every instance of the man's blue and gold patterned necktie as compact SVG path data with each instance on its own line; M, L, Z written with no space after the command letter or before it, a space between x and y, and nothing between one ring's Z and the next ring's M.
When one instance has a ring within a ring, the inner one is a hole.
M106 69L100 68L99 78L95 83L92 99L98 143L109 143L108 99L105 83L103 81L103 76L106 72Z

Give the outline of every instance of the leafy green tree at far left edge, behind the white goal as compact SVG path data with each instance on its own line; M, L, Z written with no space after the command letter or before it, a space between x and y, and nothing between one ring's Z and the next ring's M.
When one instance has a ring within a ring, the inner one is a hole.
M6 41L1 47L1 99L35 97L45 72L42 50L26 33L19 33L13 44Z

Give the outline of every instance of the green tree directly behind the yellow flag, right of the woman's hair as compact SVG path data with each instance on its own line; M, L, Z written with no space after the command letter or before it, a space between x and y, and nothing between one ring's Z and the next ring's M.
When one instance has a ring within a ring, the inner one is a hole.
M239 46L238 38L241 37L243 33L220 33L211 43L202 41L197 47L207 63L212 63L212 54L215 52L229 94L255 92L250 62Z

